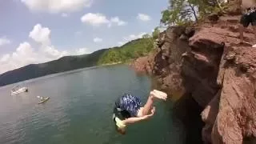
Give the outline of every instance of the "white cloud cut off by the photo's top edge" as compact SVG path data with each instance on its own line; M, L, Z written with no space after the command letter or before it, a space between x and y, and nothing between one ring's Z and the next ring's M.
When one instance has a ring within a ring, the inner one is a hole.
M74 12L89 7L93 0L21 0L32 11Z

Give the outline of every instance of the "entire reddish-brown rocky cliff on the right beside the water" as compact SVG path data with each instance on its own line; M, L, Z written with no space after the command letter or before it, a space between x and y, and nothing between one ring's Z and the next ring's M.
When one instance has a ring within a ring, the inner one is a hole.
M239 16L217 19L168 28L157 50L132 66L202 107L202 142L256 143L256 49L239 43ZM254 33L246 30L246 42L256 42Z

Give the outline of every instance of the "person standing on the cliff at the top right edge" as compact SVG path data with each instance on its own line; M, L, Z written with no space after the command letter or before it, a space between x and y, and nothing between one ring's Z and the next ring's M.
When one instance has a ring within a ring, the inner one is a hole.
M244 42L243 32L246 27L250 24L254 30L254 37L256 38L256 1L255 0L241 0L242 17L240 19L239 33L240 33L240 43ZM250 44L251 45L251 44ZM254 43L252 47L256 47Z

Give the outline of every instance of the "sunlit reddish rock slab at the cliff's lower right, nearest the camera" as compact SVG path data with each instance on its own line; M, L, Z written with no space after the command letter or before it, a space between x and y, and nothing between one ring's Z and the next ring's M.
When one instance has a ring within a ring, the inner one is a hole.
M256 138L256 49L231 47L234 60L223 60L222 92L212 131L213 143L243 143Z

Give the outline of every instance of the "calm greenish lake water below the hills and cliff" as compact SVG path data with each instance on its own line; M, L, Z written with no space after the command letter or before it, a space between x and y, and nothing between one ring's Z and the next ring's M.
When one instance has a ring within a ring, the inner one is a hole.
M172 118L171 102L156 102L149 121L114 130L114 101L131 93L146 102L150 78L128 66L104 66L20 82L29 92L10 95L0 88L1 144L181 144L184 130ZM38 105L37 95L50 100Z

